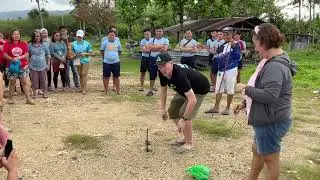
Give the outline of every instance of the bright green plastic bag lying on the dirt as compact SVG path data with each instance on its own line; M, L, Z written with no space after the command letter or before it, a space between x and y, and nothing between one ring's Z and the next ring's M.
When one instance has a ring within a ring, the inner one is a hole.
M186 173L196 180L207 180L210 177L211 169L204 165L195 165L186 169Z

